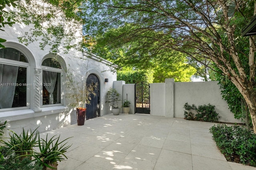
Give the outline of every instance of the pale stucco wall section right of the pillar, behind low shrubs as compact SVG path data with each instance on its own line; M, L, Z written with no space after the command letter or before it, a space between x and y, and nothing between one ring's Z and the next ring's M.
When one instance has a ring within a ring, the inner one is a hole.
M234 119L234 114L228 109L228 104L222 99L217 81L209 82L175 82L174 83L174 117L184 117L184 104L196 106L211 104L219 113L220 121L240 123Z

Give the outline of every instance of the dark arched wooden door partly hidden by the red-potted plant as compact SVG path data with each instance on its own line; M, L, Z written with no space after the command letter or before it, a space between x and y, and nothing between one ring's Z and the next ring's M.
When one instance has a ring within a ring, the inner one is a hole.
M86 79L86 84L97 84L94 89L96 96L91 96L90 104L86 104L86 120L100 116L100 80L95 74L90 74Z

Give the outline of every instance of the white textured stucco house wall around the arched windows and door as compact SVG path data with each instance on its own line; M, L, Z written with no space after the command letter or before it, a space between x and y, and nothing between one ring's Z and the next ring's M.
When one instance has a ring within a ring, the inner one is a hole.
M86 81L89 74L95 74L100 80L100 115L109 113L109 107L105 103L106 92L116 81L116 73L112 72L112 63L101 59L100 57L86 52L70 49L69 53L64 53L60 45L57 55L49 54L50 48L46 46L44 50L40 49L40 42L25 46L17 39L24 35L32 27L15 23L12 27L6 25L5 31L0 31L0 37L6 39L2 43L5 47L19 50L28 59L29 67L27 72L27 83L42 83L42 61L46 58L56 57L63 68L73 71L75 81ZM78 30L79 32L80 30ZM74 39L77 41L77 39ZM108 78L108 82L105 82ZM66 125L76 123L76 113L74 108L69 106L72 99L66 98L68 89L65 86L66 75L62 72L62 95L61 103L43 106L42 105L42 86L28 86L27 107L0 109L0 121L8 121L8 129L19 131L22 127L32 129L40 126L40 132L56 129Z

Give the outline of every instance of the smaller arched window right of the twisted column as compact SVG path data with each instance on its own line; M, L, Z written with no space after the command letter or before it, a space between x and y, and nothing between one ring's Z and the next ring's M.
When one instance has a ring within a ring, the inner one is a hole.
M60 104L61 75L60 63L47 58L42 63L43 74L43 105Z

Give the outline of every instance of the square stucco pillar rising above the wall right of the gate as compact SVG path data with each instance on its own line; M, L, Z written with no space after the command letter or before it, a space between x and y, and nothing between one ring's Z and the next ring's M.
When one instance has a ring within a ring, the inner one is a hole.
M165 117L174 117L174 79L165 79Z

